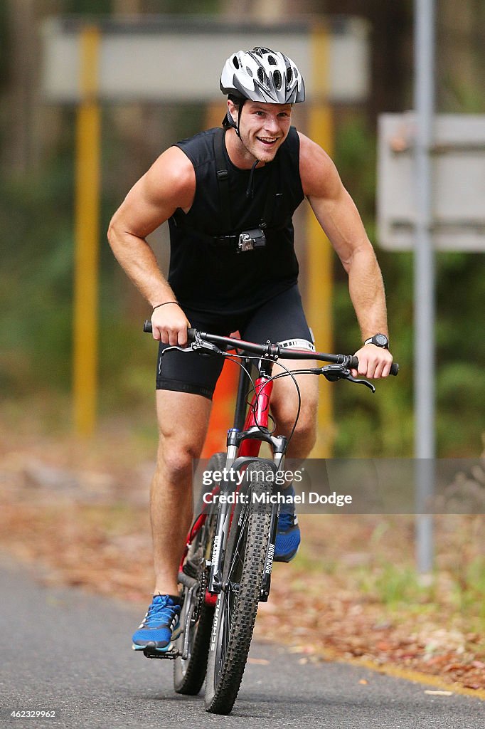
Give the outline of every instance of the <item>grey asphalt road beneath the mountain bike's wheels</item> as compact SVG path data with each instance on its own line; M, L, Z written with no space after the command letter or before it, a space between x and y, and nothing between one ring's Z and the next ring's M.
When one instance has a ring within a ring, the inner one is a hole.
M204 711L201 696L173 693L169 661L148 660L130 649L143 609L83 590L44 588L9 561L0 563L0 596L0 727L485 725L485 703L476 698L427 695L433 687L344 663L301 665L298 655L257 643L232 714L214 716ZM54 709L56 718L9 718L25 709Z

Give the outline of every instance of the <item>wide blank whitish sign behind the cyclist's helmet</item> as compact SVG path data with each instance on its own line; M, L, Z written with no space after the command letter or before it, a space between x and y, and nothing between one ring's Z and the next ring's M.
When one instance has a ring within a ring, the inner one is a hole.
M42 93L46 101L79 101L79 20L50 18L42 27ZM303 74L309 101L326 90L329 101L362 101L368 94L368 26L346 17L328 20L326 67L312 58L309 23L258 26L201 22L191 17L100 21L98 95L103 101L201 101L221 98L224 61L257 45L289 55ZM317 58L315 54L315 58ZM325 54L323 54L325 58Z

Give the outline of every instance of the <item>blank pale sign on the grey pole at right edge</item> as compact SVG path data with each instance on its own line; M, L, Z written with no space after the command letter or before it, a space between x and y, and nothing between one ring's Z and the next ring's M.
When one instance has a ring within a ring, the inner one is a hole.
M379 117L377 227L383 248L414 248L415 114ZM438 114L432 155L433 241L450 251L485 250L485 116Z

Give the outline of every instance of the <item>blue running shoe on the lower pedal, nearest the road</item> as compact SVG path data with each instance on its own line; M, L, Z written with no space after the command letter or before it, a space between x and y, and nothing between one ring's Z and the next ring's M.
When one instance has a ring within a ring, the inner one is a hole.
M170 641L181 632L178 620L180 611L181 604L178 597L154 595L143 623L133 634L133 650L149 649L156 652L170 650Z

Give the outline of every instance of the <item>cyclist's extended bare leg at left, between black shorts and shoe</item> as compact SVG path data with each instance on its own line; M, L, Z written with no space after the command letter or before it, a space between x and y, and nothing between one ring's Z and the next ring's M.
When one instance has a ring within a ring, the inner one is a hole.
M199 458L211 402L201 395L157 391L159 446L150 515L155 593L176 595L177 574L192 522L192 459Z

